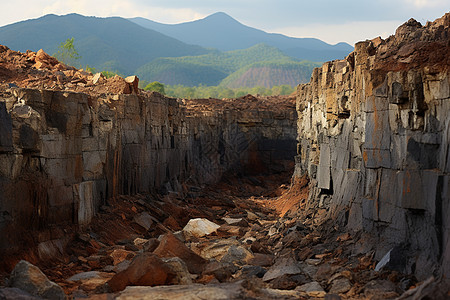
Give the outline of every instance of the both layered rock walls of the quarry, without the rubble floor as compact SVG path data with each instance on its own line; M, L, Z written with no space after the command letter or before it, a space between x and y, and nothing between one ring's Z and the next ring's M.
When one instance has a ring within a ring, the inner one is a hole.
M355 252L450 278L449 53L450 14L410 20L315 69L296 107L139 95L137 81L135 94L0 90L0 253L52 258L111 197L285 170L298 154L306 209L360 236Z

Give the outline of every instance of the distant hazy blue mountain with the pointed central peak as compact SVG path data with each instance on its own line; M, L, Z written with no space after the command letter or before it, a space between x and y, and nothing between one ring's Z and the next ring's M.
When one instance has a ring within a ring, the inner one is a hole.
M153 29L187 44L221 51L245 49L256 44L276 47L301 60L328 61L344 57L353 51L347 43L327 44L315 38L293 38L246 26L223 12L204 19L181 24L162 24L144 18L131 18L145 28Z

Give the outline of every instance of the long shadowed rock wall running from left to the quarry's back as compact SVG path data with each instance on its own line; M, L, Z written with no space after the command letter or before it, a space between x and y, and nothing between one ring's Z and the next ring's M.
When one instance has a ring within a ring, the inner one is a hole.
M1 98L4 254L37 245L40 259L54 257L72 233L63 228L88 224L115 195L179 191L228 170L283 170L295 156L292 99L250 110L205 100L204 110L157 93L13 89Z

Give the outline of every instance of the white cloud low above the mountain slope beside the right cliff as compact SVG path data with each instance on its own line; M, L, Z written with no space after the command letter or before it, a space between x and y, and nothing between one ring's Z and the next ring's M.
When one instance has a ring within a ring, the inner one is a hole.
M356 42L377 36L386 38L395 33L403 21L349 22L344 24L308 24L299 27L284 27L272 30L292 37L315 37L330 44Z

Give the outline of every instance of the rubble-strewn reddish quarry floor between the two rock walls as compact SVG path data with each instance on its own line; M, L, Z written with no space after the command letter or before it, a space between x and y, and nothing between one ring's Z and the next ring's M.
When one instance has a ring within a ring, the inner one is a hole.
M364 236L342 234L322 223L325 210L304 210L308 180L290 186L290 174L229 175L214 186L185 185L178 194L111 199L61 257L39 267L75 299L420 295L427 283L374 270ZM15 288L33 293L30 279L19 274L30 272L25 269L16 267L4 277L11 287L0 290L0 298L25 295ZM48 288L35 290L50 293ZM50 298L58 298L52 293Z

